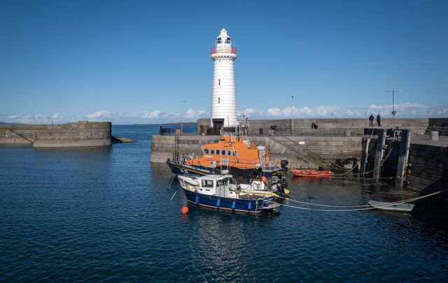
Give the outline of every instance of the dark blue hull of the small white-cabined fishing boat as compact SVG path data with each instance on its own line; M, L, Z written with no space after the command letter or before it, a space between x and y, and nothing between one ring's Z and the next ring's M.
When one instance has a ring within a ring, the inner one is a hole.
M190 203L195 203L207 208L260 213L264 210L273 210L274 208L279 207L279 205L272 205L272 208L269 208L265 205L265 200L262 199L251 200L241 198L223 198L220 196L199 194L188 189L183 189L183 192L185 193L185 196Z

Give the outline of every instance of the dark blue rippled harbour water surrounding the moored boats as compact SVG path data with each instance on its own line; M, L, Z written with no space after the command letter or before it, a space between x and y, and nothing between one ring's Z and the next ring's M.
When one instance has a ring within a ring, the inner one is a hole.
M191 204L181 215L179 182L169 186L169 168L149 162L158 126L112 133L137 141L0 147L0 281L448 281L446 215L288 206L247 215ZM393 191L354 178L289 177L288 189L291 200L326 205Z

